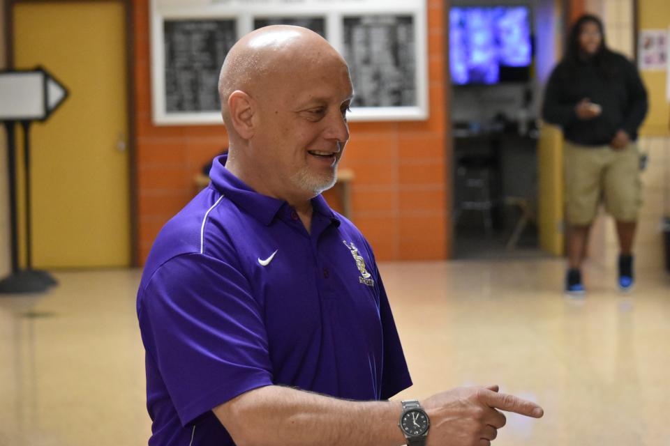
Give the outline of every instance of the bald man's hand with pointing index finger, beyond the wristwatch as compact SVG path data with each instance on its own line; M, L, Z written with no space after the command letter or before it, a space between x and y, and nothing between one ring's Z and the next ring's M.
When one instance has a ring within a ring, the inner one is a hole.
M513 395L498 393L498 386L458 387L423 401L431 420L426 445L489 446L505 426L501 410L539 418L544 410Z

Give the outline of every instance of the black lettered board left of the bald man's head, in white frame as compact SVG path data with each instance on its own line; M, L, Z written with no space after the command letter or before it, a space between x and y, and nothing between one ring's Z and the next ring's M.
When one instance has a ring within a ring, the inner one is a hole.
M218 112L218 75L237 41L235 20L166 20L165 109Z

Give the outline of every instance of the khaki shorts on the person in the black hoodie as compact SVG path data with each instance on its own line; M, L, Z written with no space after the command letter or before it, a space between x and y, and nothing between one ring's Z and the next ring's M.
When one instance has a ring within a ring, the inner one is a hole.
M604 201L619 222L634 222L642 204L637 146L621 150L565 141L565 210L567 222L588 225Z

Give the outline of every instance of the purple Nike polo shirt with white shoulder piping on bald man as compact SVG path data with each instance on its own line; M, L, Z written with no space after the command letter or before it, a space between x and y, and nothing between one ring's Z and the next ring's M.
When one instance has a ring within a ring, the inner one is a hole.
M233 445L211 409L265 385L356 400L412 385L362 234L321 196L308 233L225 161L158 234L137 293L150 445Z

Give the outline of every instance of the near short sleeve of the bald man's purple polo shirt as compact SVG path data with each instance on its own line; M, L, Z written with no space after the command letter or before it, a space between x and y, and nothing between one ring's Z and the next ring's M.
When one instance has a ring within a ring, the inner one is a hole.
M170 259L144 288L139 318L184 426L272 384L262 307L231 263L204 254Z

